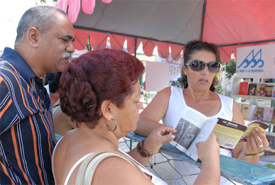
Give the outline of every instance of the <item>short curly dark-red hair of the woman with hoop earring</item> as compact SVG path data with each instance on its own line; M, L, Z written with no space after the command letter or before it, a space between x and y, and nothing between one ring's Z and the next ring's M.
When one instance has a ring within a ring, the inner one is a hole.
M142 62L129 53L115 49L89 51L65 66L59 85L61 109L73 121L94 128L102 116L101 103L109 100L123 108L143 73Z

